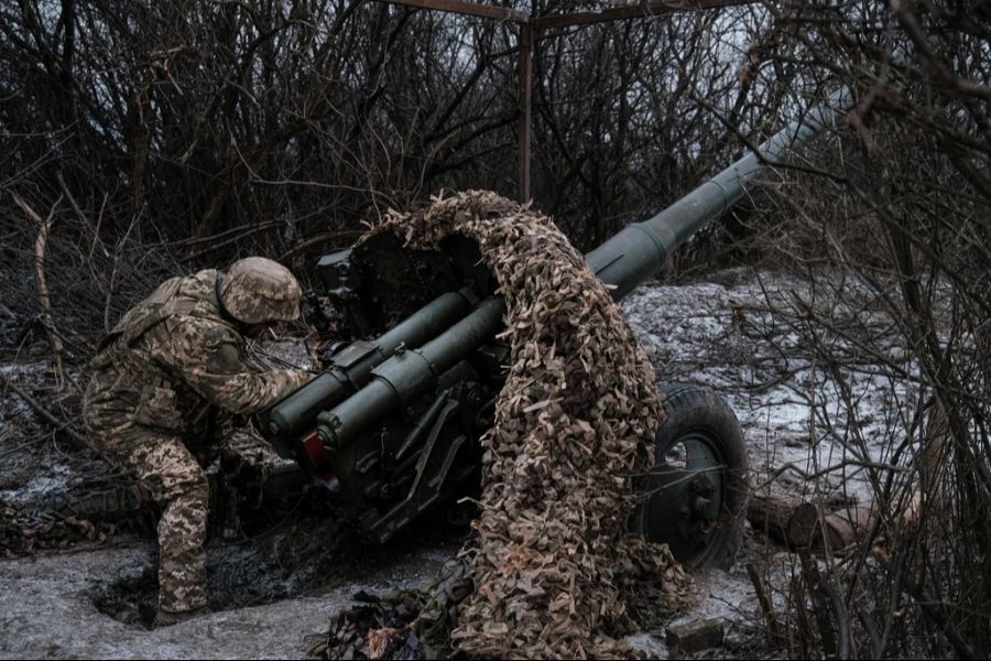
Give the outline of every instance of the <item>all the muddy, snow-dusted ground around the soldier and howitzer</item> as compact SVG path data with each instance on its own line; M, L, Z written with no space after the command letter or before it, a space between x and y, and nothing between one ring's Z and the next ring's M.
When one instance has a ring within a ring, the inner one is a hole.
M808 500L837 492L863 500L870 495L859 476L841 468L850 448L836 427L824 431L818 420L817 411L840 411L845 404L828 380L815 378L801 333L775 323L766 310L774 296L804 291L791 277L734 270L706 282L643 286L623 307L662 381L706 383L731 403L744 427L755 485ZM54 393L42 349L22 347L0 370L29 397L52 410L69 410L72 397L59 401ZM867 449L882 459L892 392L903 386L870 369L852 373L851 382L862 409L858 415L876 427L868 430L876 443ZM57 508L74 494L115 484L111 468L65 433L53 434L10 383L0 382L3 517ZM810 401L817 402L815 410ZM830 466L836 470L824 472ZM806 479L803 473L819 477ZM429 583L467 530L437 519L384 548L361 543L347 502L328 494L255 509L239 525L221 521L208 549L215 613L157 630L148 628L155 595L153 521L121 517L85 529L34 519L40 535L54 539L67 530L75 541L53 550L57 544L48 539L40 542L48 548L42 551L30 550L24 540L6 541L13 557L0 560L0 658L302 658L355 593ZM3 544L0 538L0 550ZM775 607L796 566L786 550L748 530L729 573L697 575L699 603L675 624L716 617L727 633L703 655L785 653L766 644L744 562L769 578ZM631 642L652 657L668 657L663 630L642 631Z

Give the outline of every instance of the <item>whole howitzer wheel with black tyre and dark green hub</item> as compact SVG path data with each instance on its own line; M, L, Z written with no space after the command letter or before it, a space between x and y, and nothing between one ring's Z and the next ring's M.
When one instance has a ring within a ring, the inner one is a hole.
M634 530L665 542L688 568L728 570L743 540L748 460L729 405L708 388L662 386L667 419L657 430L656 464Z

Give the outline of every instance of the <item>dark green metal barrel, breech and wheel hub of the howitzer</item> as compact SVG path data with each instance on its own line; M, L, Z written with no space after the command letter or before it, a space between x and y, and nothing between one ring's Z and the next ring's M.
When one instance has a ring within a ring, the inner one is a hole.
M622 299L756 185L769 163L785 162L789 150L849 105L848 91L835 94L756 153L588 253L590 268L611 285L613 299ZM442 253L418 254L383 240L325 256L319 270L327 295L347 311L351 336L368 338L334 353L324 372L262 416L282 456L324 480L336 476L362 512L362 528L380 542L468 479L479 463L473 440L491 426L507 360L493 340L505 305L473 291L487 291L490 274L472 249L454 243ZM461 290L447 291L454 288ZM694 485L697 491L675 494L676 511L690 506L689 519L703 524L714 513L706 505L714 500L699 495L711 490L707 468L672 472L678 484L690 478L686 489ZM675 516L667 511L671 499L662 503L662 518Z

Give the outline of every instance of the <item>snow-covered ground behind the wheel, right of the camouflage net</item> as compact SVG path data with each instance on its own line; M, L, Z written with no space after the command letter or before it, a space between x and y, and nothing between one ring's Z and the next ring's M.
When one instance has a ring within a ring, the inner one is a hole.
M821 479L802 479L806 487L820 494L843 488L858 501L872 500L863 465L889 462L900 442L911 415L902 408L911 399L911 366L873 365L869 354L857 357L853 339L772 314L771 305L798 310L823 292L794 278L744 273L725 272L720 283L643 286L623 302L658 379L706 384L727 399L758 479L791 465L797 470L783 474L785 481L815 475ZM874 319L851 315L858 324L883 324L880 313ZM832 343L829 348L850 360L817 364L816 342ZM889 350L896 355L896 344Z

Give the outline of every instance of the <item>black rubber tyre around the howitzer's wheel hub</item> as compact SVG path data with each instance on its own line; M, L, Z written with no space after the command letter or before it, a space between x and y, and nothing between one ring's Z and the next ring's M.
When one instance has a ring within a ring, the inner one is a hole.
M723 466L719 470L723 497L720 514L709 533L710 540L694 556L676 557L689 570L729 570L743 541L747 501L750 497L750 468L740 422L729 404L709 388L667 383L662 384L661 390L665 394L664 410L667 418L657 430L655 457L665 457L667 449L686 434L703 433L722 459ZM646 530L649 523L645 511L641 507L634 513L634 530L651 541L663 542L663 535Z

